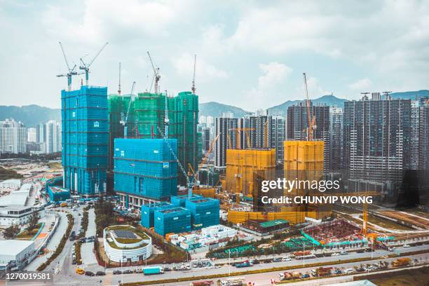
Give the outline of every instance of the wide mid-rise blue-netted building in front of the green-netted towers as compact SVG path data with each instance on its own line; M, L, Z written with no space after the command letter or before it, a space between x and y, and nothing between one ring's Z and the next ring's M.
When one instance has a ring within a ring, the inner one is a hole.
M120 139L114 143L114 190L147 198L177 193L177 139Z

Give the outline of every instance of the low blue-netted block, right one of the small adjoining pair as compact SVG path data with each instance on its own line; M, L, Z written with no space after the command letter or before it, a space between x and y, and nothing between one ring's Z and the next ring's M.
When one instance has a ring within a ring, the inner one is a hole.
M192 198L186 200L185 207L191 211L192 229L202 229L219 224L219 200Z

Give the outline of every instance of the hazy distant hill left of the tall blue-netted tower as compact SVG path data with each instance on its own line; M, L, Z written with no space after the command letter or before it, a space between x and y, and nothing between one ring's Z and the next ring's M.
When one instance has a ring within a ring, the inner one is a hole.
M21 121L25 127L34 127L37 123L46 123L50 120L61 121L61 109L41 107L36 104L22 107L0 105L0 121L13 118Z

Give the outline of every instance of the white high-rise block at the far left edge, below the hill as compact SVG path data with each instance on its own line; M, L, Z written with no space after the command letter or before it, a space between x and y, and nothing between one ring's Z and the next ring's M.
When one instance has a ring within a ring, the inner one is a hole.
M0 154L22 154L27 151L27 128L12 118L0 121Z

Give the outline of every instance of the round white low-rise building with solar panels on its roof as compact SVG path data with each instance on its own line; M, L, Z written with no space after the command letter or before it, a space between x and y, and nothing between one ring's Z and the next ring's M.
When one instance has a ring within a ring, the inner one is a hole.
M147 259L152 254L152 239L133 226L108 226L103 230L104 251L111 261Z

